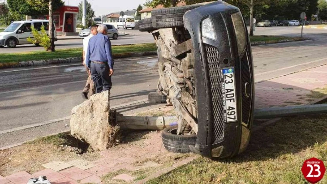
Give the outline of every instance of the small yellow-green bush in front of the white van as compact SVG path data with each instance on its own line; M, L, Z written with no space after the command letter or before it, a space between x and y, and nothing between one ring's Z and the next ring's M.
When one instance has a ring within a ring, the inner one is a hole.
M29 37L27 38L27 41L36 45L41 45L45 48L46 51L49 51L51 47L51 41L44 29L44 26L42 25L41 27L41 33L35 29L34 26L31 26L31 29L34 38Z

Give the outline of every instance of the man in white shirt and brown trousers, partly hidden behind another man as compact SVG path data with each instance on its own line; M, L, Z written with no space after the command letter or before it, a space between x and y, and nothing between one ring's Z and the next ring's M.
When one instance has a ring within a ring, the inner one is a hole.
M86 55L87 55L87 48L88 48L88 45L89 45L90 38L92 38L94 35L96 35L98 33L97 28L98 28L98 25L92 25L90 35L83 39L83 65L84 65L84 67L86 69L87 75L89 76L87 78L86 85L85 85L85 87L83 89L83 92L82 92L82 97L84 99L88 99L87 94L89 93L90 88L91 88L91 91L92 91L90 96L95 94L94 82L93 82L93 80L91 78L91 73L90 73L90 71L88 69L88 66L85 65L85 63L86 63L85 59L86 59Z

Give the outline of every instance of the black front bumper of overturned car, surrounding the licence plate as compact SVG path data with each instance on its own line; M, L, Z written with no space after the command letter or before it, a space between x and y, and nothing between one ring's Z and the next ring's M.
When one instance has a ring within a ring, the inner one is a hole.
M218 1L190 10L183 17L194 47L198 111L197 141L190 148L209 158L235 156L245 151L250 140L254 106L252 52L248 38L246 49L241 56L238 54L231 18L236 12L238 8ZM202 36L199 25L208 17L214 25L216 40ZM226 68L235 71L237 121L232 123L225 121L221 72Z

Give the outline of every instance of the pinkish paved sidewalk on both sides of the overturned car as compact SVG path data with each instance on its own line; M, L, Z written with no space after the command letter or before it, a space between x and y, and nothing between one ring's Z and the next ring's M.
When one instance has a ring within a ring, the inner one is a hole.
M322 88L325 84L327 84L327 65L256 83L255 108L307 104L313 100L310 95L312 90ZM47 176L52 183L56 184L100 183L106 182L101 181L103 179L101 176L109 173L115 173L110 175L110 183L121 181L133 183L144 178L136 179L136 176L131 174L133 172L146 170L147 176L145 177L156 177L198 157L198 155L190 154L188 158L180 159L177 163L168 166L165 162L158 161L160 160L158 158L171 160L176 154L163 148L161 133L155 131L146 134L145 137L135 142L123 143L119 149L114 147L108 151L102 151L100 152L102 157L93 162L82 159L55 160L43 164L44 170L37 173L21 171L6 177L0 176L0 184L26 184L30 177L40 175ZM117 173L117 171L120 172ZM108 181L108 177L106 179Z

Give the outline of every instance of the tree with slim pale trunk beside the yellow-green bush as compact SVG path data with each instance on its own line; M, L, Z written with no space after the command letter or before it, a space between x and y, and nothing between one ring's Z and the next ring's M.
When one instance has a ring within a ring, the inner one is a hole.
M26 3L33 7L38 12L43 12L48 10L49 13L49 37L51 41L51 47L49 50L51 52L55 51L55 37L54 37L54 30L55 26L53 24L53 11L56 8L59 8L64 5L61 0L27 0ZM44 14L43 14L44 15Z

